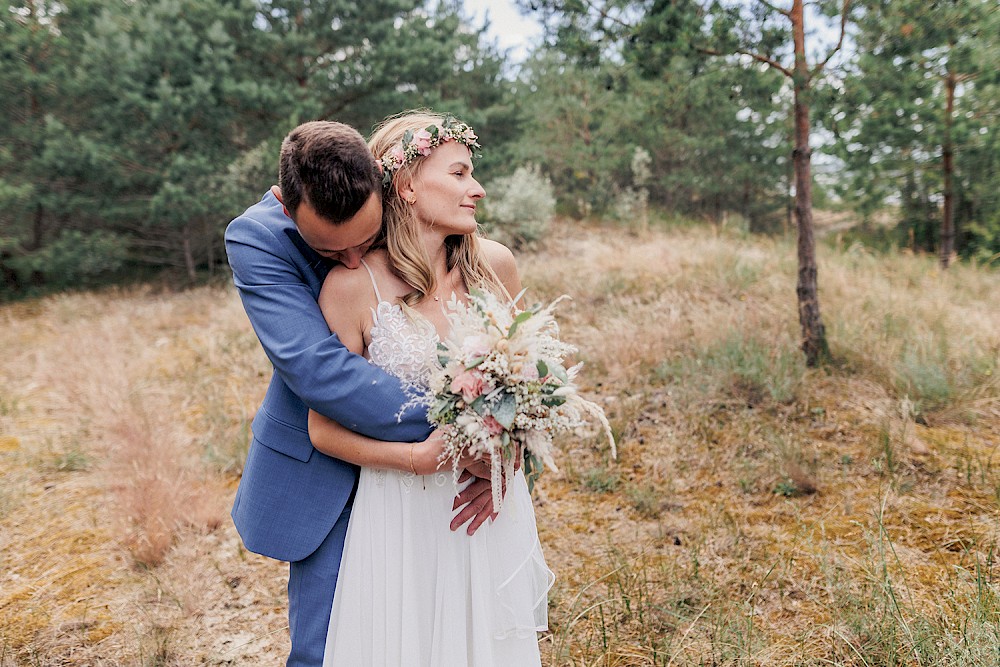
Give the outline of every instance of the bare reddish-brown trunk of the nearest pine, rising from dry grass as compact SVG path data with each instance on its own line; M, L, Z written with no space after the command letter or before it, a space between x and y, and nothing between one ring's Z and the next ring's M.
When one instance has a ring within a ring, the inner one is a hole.
M818 366L829 357L826 331L819 313L816 271L816 238L812 220L812 154L809 149L809 68L806 62L803 0L794 0L790 18L795 40L795 219L798 224L799 277L796 293L799 300L799 324L802 327L802 351L806 365Z

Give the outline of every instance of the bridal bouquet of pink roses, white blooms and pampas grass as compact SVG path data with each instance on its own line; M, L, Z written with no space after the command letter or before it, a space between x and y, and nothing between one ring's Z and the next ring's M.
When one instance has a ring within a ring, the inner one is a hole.
M576 348L558 339L553 311L564 298L517 312L492 293L473 290L468 303L453 296L447 304L451 331L438 344L441 368L431 375L422 402L444 432L442 461L450 459L456 474L463 453L489 458L497 509L503 477L513 474L519 446L529 479L543 465L556 471L552 435L583 426L590 417L601 424L611 455L617 456L604 411L573 384L581 364L565 367Z

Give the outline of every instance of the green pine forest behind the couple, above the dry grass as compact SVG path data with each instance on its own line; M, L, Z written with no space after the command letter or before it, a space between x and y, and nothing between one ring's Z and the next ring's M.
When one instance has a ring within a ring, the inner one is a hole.
M460 2L4 2L0 296L224 270L225 222L275 180L291 127L367 134L418 106L481 128L487 185L535 168L566 216L794 227L795 80L769 65L791 67L785 15L521 5L546 38L513 63ZM994 3L811 4L808 58L832 50L842 15L842 47L807 91L816 203L860 220L866 244L920 251L938 248L948 208L954 249L991 261Z

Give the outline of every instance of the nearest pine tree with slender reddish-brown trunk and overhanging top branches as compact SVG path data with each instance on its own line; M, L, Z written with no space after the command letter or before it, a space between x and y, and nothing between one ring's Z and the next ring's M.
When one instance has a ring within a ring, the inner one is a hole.
M702 7L693 0L522 0L524 8L539 8L549 19L557 43L575 49L584 62L597 62L608 44L638 44L645 69L662 67L678 53L722 57L734 64L766 67L784 76L792 87L795 178L795 218L798 228L798 300L802 349L810 366L829 356L820 316L816 243L812 221L812 149L809 106L816 82L840 51L850 18L850 0L839 6L819 3L836 17L839 39L818 62L809 63L803 0L779 7L768 0L722 2Z

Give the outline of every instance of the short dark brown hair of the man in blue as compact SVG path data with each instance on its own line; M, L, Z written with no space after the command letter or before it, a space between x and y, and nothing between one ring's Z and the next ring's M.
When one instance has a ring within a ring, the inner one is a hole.
M382 176L364 138L349 125L315 120L281 142L281 198L295 217L302 202L335 225L354 216L372 193L382 196Z

